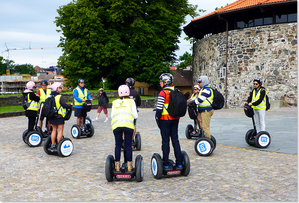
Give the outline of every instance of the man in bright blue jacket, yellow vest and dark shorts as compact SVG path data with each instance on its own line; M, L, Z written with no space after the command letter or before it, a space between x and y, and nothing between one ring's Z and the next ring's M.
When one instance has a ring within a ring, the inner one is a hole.
M83 112L82 105L86 100L93 101L88 90L84 88L84 83L85 81L83 79L79 79L78 87L76 87L73 90L74 106L75 106L74 116L77 117L77 125L80 126L80 123L82 123L83 128L84 128L83 123L85 123L85 118L87 116L87 113Z

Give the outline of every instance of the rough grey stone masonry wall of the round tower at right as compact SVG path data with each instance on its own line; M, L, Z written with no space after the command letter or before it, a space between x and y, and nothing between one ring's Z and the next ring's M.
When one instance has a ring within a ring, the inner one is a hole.
M226 32L211 35L193 46L193 82L207 75L210 85L225 97ZM284 23L229 31L227 107L242 107L256 77L263 79L270 100L296 98L297 23Z

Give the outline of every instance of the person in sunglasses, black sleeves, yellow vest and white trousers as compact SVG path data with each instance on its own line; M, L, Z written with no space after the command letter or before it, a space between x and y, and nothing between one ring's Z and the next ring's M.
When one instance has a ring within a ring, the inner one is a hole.
M261 78L255 78L253 80L254 89L250 92L247 101L244 101L244 105L248 104L253 108L257 133L260 131L265 131L266 128L265 115L267 91L262 84L263 80Z

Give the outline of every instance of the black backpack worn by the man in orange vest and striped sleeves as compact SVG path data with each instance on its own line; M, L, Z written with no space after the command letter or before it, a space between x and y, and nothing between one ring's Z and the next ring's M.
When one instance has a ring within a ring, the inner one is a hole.
M174 90L165 88L164 90L170 91L169 103L168 107L166 108L168 114L173 118L185 116L187 112L187 101L183 93L178 91L177 88L174 88Z

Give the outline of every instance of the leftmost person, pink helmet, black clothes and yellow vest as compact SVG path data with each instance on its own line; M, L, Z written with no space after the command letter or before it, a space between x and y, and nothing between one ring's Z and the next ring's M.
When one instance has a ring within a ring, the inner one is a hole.
M40 97L36 96L33 92L35 83L29 81L26 83L27 89L23 92L23 97L28 97L28 103L30 106L25 110L25 116L28 118L28 133L34 130L34 125L37 117L38 102Z

